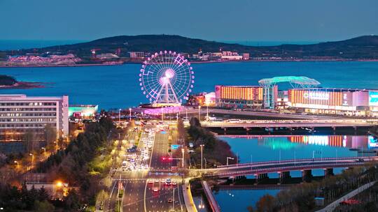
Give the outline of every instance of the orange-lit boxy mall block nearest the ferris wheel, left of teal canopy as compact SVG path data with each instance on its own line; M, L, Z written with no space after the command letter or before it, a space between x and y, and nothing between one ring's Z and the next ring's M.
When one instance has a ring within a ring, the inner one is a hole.
M260 108L264 100L262 86L216 85L216 105L230 108Z

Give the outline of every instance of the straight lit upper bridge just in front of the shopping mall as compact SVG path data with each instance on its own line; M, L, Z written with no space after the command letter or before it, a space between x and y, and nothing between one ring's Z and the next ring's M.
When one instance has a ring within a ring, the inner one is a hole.
M204 128L318 128L318 127L371 127L377 119L312 119L312 120L240 120L202 121Z

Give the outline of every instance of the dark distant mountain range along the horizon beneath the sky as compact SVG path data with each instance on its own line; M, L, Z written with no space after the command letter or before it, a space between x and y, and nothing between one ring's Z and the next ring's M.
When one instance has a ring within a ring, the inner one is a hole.
M127 52L159 52L174 50L195 54L202 52L235 51L250 53L251 57L278 57L282 59L378 59L378 36L360 36L349 40L310 45L246 46L172 35L114 36L86 43L59 45L39 49L0 52L0 56L26 53L73 53L89 59L91 50L97 53L114 53L120 48L121 56Z

